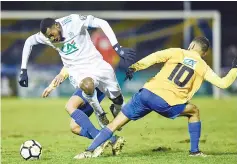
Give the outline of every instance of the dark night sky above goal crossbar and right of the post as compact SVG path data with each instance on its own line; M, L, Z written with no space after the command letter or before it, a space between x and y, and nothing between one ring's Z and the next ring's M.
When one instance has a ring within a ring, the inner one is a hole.
M169 2L1 2L2 10L183 10L183 1ZM192 10L218 10L222 21L222 47L237 44L237 2L196 1L191 2Z

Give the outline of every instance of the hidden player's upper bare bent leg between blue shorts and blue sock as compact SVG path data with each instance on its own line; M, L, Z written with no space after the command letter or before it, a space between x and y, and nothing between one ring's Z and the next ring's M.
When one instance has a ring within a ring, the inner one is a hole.
M82 97L79 97L77 95L73 95L73 96L71 96L71 98L66 103L65 108L66 108L68 114L71 115L78 107L81 107L83 105L85 105L85 102L82 99Z

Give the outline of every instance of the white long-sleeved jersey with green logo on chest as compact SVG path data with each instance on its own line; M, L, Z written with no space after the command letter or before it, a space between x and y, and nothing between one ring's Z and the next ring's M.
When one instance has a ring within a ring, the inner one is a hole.
M100 62L103 57L92 43L87 31L88 27L102 28L111 44L115 45L117 43L117 39L108 23L92 15L71 14L55 21L62 27L64 41L52 43L41 32L30 36L23 49L22 68L26 68L31 47L36 44L46 44L57 50L66 68L74 66L91 67L92 63Z

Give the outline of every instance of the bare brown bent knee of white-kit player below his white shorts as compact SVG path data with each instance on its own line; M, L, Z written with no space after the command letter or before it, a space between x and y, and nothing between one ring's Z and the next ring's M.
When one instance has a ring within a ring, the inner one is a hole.
M90 77L83 79L79 86L87 95L93 95L95 90L94 80Z

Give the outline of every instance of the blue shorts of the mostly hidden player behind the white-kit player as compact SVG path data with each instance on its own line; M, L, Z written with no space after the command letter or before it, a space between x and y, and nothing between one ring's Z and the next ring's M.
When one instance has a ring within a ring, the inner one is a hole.
M97 91L97 99L99 102L101 102L104 97L105 94L103 92L101 92L98 88L96 88ZM90 106L90 104L88 103L88 101L82 96L82 90L81 89L77 89L72 96L79 96L80 98L83 99L84 101L84 105L78 109L82 110L88 117L91 116L91 114L94 112L93 108Z

